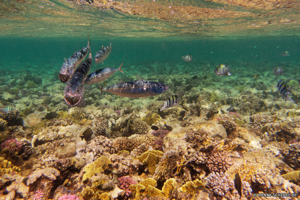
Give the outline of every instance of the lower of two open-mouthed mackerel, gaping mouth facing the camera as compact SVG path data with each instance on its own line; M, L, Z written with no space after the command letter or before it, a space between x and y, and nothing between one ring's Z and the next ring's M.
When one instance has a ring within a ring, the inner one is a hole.
M83 80L85 80L90 71L92 59L93 57L90 50L88 58L74 71L73 76L67 83L64 89L64 101L67 105L74 106L80 102L84 93Z

